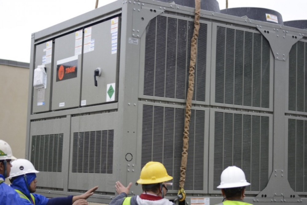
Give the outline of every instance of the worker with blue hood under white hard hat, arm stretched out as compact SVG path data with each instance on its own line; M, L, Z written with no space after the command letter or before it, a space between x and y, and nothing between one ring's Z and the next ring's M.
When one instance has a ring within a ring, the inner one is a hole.
M87 192L78 196L58 197L49 199L43 195L33 194L36 191L36 173L33 164L26 159L17 159L12 162L10 174L11 187L19 194L23 204L30 205L52 205L52 204L87 204L85 200L94 194L98 187L91 188Z

